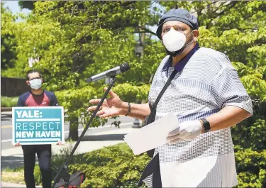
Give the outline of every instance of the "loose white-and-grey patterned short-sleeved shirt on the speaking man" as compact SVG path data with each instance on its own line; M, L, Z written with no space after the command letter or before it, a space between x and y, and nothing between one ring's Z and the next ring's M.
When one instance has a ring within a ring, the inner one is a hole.
M157 95L174 70L162 68L155 73L148 101ZM199 48L182 72L177 72L157 105L155 120L170 112L179 122L205 118L225 106L238 106L253 113L248 93L226 55L209 48ZM204 133L193 140L167 143L155 149L159 153L162 187L233 187L237 184L230 128ZM153 175L143 182L152 187Z

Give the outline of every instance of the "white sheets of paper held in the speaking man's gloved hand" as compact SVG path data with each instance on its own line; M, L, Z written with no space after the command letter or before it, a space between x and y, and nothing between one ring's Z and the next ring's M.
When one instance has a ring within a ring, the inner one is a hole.
M173 113L150 123L123 138L135 155L144 153L167 143L168 134L179 127L177 116Z

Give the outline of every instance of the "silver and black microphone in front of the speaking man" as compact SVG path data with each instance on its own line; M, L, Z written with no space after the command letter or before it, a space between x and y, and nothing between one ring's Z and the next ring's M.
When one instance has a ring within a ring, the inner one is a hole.
M113 77L116 74L119 74L121 72L126 72L126 71L128 71L130 69L131 69L131 67L129 67L127 62L125 62L124 64L119 65L117 67L114 67L111 70L106 70L105 72L101 72L99 74L96 74L96 75L86 79L85 81L86 82L96 82L99 79L104 79L106 77Z

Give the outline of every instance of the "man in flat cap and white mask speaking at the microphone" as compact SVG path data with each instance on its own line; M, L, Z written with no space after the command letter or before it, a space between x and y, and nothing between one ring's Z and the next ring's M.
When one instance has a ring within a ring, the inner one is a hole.
M226 55L199 47L197 18L171 9L159 21L157 36L165 45L147 104L129 104L114 92L101 118L126 115L145 119L174 70L177 74L157 104L155 120L173 112L180 122L169 143L155 148L153 170L141 180L148 187L233 187L237 182L230 127L252 116L250 97ZM92 99L92 104L99 99ZM96 106L89 107L94 111ZM163 127L162 127L163 128Z

